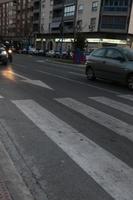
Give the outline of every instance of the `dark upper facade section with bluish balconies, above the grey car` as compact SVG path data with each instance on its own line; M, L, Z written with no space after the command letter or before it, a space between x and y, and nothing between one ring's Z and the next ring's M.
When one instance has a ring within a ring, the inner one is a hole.
M126 35L133 34L131 31L132 24L132 0L102 0L99 31Z

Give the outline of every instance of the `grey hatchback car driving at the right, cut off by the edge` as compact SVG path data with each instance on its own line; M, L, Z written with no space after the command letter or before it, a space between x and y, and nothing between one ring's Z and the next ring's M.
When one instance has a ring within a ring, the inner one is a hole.
M86 76L88 80L121 82L133 90L133 50L121 47L94 50L86 63Z

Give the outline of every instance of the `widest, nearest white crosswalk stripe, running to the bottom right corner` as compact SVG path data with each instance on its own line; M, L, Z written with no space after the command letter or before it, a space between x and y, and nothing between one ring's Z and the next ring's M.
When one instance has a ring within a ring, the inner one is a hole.
M115 200L133 199L133 169L33 100L12 101Z

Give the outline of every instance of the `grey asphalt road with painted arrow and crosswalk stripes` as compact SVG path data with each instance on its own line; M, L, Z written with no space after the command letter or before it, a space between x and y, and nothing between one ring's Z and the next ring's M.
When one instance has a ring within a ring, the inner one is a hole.
M132 200L133 93L85 67L0 68L0 167L13 200Z

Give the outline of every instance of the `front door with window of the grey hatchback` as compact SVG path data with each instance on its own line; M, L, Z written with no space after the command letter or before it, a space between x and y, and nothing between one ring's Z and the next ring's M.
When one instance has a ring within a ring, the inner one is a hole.
M107 48L103 65L103 78L121 81L125 76L125 58L115 48Z

